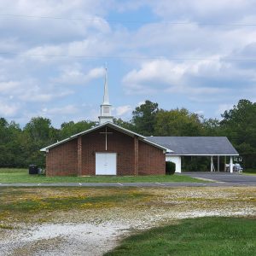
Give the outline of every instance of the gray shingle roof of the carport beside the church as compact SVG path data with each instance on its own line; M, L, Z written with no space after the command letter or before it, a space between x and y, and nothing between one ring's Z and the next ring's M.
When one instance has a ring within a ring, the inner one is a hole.
M227 137L147 137L173 155L238 155Z

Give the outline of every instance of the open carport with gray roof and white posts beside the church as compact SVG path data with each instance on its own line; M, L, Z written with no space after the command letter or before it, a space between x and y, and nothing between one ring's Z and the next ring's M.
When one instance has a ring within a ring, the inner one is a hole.
M233 157L239 155L227 137L148 137L148 140L172 150L172 152L166 152L166 161L175 163L175 172L182 172L183 156L207 156L209 157L209 171L233 172ZM226 170L225 165L221 168L221 157L224 157L225 164L229 164L229 170ZM213 158L217 158L215 166Z

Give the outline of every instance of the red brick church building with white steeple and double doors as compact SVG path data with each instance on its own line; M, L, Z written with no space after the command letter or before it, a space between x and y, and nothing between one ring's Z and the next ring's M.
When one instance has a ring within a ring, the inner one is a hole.
M113 124L107 72L99 125L42 148L46 175L166 174L166 150L133 131Z

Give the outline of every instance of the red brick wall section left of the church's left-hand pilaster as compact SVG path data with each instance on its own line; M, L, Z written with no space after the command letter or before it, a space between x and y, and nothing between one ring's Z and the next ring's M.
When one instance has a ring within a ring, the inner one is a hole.
M77 139L49 149L46 154L47 176L66 176L78 173Z

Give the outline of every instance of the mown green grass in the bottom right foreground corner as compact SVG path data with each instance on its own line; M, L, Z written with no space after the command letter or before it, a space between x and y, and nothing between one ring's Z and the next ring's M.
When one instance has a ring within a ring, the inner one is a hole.
M125 238L104 255L255 255L255 234L255 218L184 219Z

